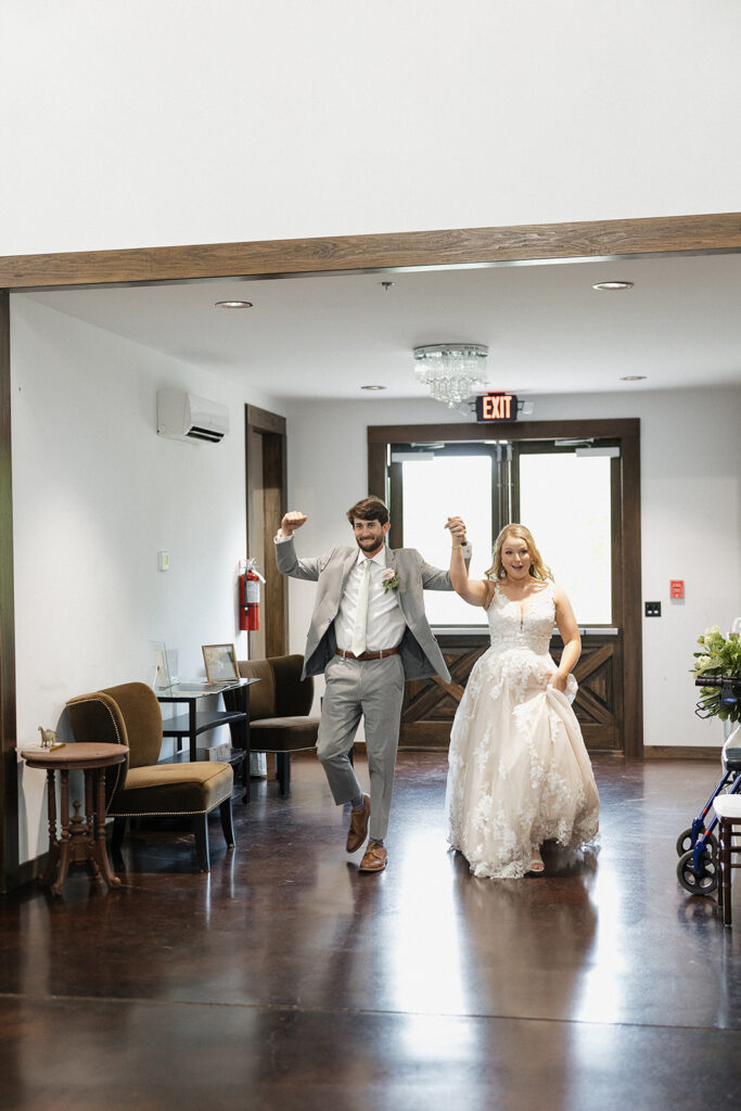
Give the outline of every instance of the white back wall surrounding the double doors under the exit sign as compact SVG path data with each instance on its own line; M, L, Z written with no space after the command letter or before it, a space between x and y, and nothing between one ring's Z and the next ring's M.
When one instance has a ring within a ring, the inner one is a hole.
M662 602L661 618L643 619L644 743L722 743L720 722L694 715L689 671L698 635L741 614L741 388L534 401L534 420L640 418L642 597ZM449 419L432 401L302 402L288 417L289 501L309 514L297 538L307 556L351 542L344 511L368 492L369 424ZM670 601L670 579L684 580L684 602ZM314 585L291 581L289 597L291 650L302 652Z

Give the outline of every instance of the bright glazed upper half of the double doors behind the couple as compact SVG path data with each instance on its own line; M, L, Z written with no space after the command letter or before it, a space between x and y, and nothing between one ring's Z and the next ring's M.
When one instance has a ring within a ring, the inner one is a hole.
M491 565L493 541L509 521L533 534L580 624L613 620L612 512L619 449L590 453L553 441L395 444L391 450L391 543L417 548L447 568L448 517L465 521L473 546L470 574ZM483 610L457 594L429 591L433 627L485 625Z

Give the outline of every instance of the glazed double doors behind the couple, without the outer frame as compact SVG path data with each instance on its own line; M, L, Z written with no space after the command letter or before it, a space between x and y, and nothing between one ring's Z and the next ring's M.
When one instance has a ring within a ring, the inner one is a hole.
M533 534L573 607L582 638L574 712L593 751L623 748L621 458L618 439L497 440L390 444L390 543L447 568L445 519L462 517L473 546L470 573L483 578L493 541L512 521ZM445 744L470 669L488 647L487 615L454 593L429 591L425 610L452 683L410 683L402 747ZM551 654L563 644L553 630ZM437 689L435 689L437 683ZM440 687L444 688L444 693ZM452 701L451 701L452 699Z

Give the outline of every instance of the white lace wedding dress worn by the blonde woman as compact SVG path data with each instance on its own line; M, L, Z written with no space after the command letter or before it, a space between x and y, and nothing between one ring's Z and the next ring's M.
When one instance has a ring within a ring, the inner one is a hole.
M471 670L451 730L448 840L474 875L519 878L543 841L593 841L600 802L571 709L577 681L569 675L567 694L548 685L552 585L522 603L497 589L488 617L491 648Z

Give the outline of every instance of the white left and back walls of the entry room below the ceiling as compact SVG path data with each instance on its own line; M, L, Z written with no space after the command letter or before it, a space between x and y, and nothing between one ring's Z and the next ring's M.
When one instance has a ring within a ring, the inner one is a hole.
M369 424L449 419L432 401L281 404L27 298L11 301L19 747L53 727L74 693L150 679L149 640L202 673L200 645L236 640L244 543L243 404L289 420L289 501L309 514L299 550L348 539L367 492ZM218 446L156 433L156 392L182 387L229 407ZM535 419L639 417L642 430L644 741L715 744L693 715L697 635L741 613L741 390L535 398ZM462 417L452 419L464 420ZM171 570L157 570L167 550ZM270 570L270 569L268 569ZM684 603L669 580L684 579ZM314 598L290 583L291 650ZM321 684L319 684L321 685ZM46 844L41 773L21 769L21 859Z

